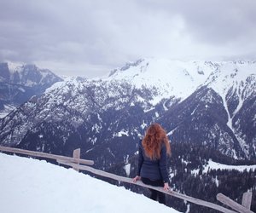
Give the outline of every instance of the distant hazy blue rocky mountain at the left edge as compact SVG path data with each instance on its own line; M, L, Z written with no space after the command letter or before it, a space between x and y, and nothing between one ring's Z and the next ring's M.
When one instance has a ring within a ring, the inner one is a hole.
M0 63L0 118L58 81L62 79L53 72L35 65Z

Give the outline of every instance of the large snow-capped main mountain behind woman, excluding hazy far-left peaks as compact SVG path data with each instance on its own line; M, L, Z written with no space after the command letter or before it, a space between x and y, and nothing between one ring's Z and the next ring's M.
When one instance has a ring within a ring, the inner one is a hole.
M159 122L171 141L254 158L255 75L256 62L137 60L108 78L55 83L0 121L0 143L67 155L81 147L106 168Z

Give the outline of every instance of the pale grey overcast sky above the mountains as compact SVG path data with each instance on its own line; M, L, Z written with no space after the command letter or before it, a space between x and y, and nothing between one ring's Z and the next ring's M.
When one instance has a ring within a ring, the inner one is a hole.
M144 57L256 60L255 0L0 0L0 61L102 76Z

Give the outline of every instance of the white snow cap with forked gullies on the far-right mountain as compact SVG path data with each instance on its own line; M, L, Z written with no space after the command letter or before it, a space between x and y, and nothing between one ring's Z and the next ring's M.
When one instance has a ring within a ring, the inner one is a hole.
M256 85L250 80L256 76L256 62L222 62L218 66L218 71L212 73L205 84L222 97L229 116L228 125L232 130L232 118L241 109L243 101L256 92ZM232 113L227 103L231 95L236 95L238 99Z

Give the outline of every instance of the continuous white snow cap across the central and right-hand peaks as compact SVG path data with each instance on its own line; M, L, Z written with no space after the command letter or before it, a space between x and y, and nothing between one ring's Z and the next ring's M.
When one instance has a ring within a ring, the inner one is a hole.
M182 61L146 58L110 72L106 80L128 80L137 88L152 86L169 95L186 98L202 84L210 84L219 95L235 83L256 74L255 61Z

